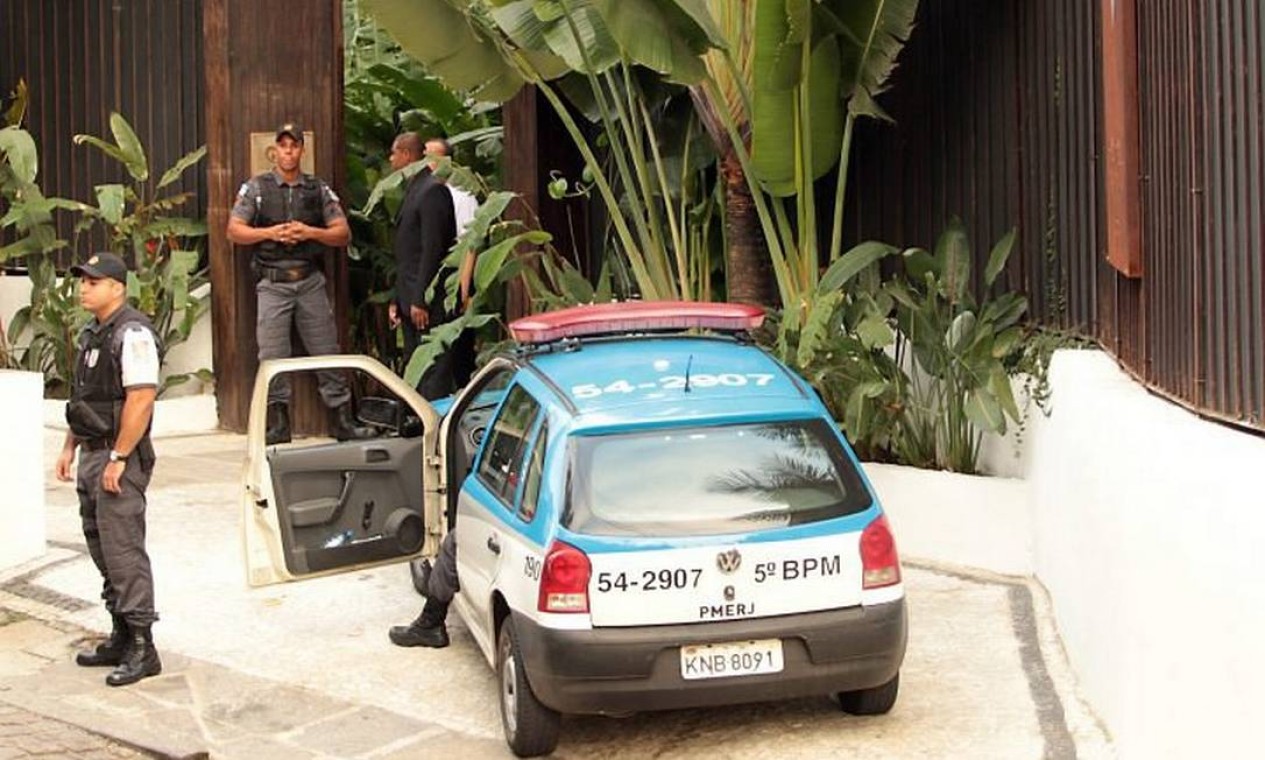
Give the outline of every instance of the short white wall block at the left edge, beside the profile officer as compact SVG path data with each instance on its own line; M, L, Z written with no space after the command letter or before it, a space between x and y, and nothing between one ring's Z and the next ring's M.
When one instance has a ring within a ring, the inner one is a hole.
M0 369L0 570L44 554L44 378Z

